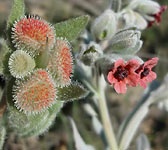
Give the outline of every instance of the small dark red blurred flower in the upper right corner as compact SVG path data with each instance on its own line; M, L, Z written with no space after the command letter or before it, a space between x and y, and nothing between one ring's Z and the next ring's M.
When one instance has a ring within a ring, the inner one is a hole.
M152 15L154 17L154 21L150 21L148 23L148 27L151 27L155 22L160 23L161 22L161 15L166 9L167 9L167 6L160 7L160 11L158 13Z

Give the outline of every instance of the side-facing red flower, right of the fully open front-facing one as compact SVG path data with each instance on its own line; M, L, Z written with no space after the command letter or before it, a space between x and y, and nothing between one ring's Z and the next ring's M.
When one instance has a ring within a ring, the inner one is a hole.
M147 83L156 79L156 73L152 71L152 68L156 66L158 58L152 58L142 64L135 72L139 74L139 84L143 88L147 87Z

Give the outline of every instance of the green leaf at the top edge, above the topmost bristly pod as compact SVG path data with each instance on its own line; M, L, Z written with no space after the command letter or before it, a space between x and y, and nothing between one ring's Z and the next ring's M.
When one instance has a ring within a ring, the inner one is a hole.
M10 27L18 18L24 15L24 12L24 0L14 0L7 26Z

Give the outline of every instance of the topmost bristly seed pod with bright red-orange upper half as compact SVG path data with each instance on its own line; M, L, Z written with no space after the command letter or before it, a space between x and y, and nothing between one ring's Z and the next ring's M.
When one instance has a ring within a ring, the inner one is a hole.
M53 48L55 31L49 23L39 17L23 17L15 22L12 28L12 39L16 48L35 56L46 47Z

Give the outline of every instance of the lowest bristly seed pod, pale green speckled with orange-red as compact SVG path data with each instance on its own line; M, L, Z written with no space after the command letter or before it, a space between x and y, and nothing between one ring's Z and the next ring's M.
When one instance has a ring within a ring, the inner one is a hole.
M37 70L26 80L16 80L13 86L15 105L26 114L39 113L56 99L55 85L45 70Z

